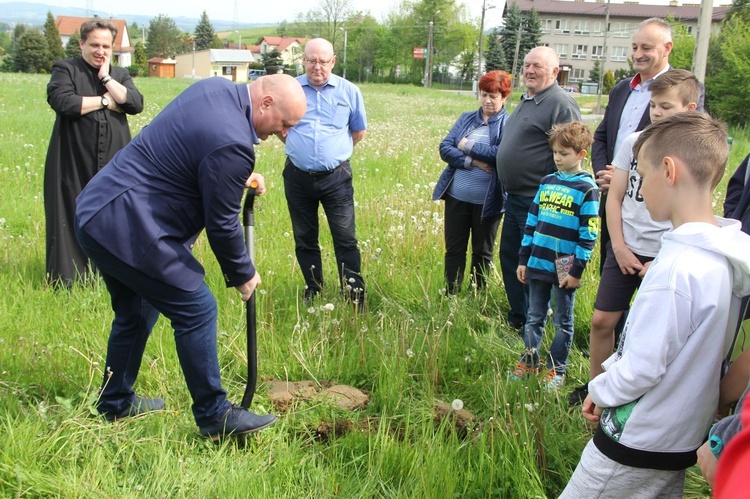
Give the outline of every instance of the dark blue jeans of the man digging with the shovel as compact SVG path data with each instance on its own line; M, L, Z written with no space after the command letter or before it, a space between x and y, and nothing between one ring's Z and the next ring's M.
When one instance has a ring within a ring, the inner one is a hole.
M107 361L98 409L115 415L125 411L135 395L133 384L159 314L171 321L177 356L193 399L199 427L214 423L230 407L221 387L216 349L217 307L205 283L185 291L158 281L125 264L79 228L83 251L99 269L109 291L115 318L107 344Z

